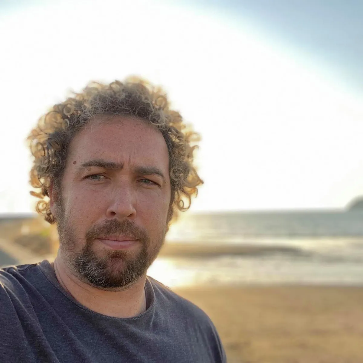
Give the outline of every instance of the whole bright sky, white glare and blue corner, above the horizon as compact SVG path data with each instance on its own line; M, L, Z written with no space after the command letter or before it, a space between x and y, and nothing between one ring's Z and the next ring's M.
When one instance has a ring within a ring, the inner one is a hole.
M192 211L363 195L360 1L0 1L0 213L30 212L38 117L91 80L162 85L200 132Z

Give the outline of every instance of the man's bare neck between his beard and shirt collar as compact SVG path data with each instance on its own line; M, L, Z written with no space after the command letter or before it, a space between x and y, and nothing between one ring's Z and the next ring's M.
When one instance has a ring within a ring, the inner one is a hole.
M81 281L64 263L59 253L52 266L60 285L79 303L96 313L130 318L146 311L146 275L125 290L107 291Z

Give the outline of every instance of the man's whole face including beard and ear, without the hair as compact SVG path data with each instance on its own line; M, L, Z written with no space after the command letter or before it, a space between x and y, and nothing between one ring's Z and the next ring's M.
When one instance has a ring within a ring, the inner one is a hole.
M171 197L160 131L125 117L91 121L72 140L61 187L51 210L73 272L100 289L143 276L163 245Z

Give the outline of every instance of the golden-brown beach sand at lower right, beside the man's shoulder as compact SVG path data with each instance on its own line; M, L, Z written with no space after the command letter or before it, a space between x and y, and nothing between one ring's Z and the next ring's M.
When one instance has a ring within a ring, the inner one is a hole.
M363 287L174 289L211 317L228 362L363 362Z

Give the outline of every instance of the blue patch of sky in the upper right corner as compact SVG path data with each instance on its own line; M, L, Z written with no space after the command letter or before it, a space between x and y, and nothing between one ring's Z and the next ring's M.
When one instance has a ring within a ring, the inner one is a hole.
M363 1L196 0L190 4L251 22L270 38L303 49L363 94Z

